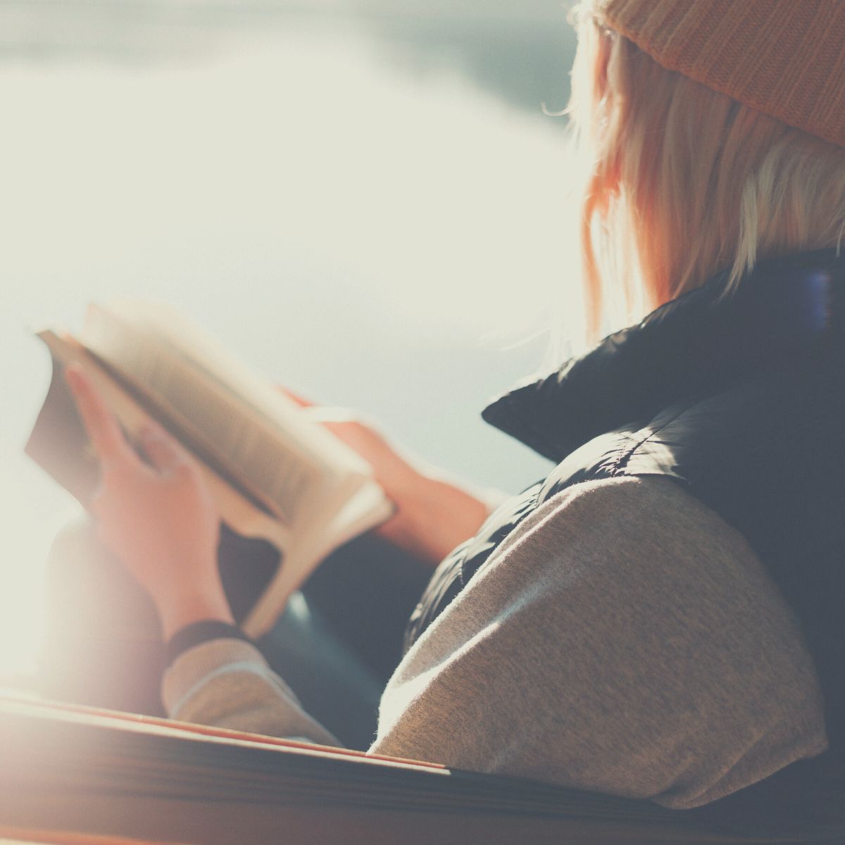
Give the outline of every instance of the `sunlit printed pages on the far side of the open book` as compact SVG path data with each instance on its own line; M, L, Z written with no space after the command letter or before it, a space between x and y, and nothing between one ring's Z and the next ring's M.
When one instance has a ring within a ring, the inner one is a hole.
M90 305L79 341L188 423L190 439L237 468L286 525L302 524L372 479L368 464L272 384L171 309Z

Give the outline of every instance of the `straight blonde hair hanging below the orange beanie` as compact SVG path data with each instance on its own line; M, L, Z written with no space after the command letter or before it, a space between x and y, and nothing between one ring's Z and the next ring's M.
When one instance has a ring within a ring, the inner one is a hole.
M593 337L718 271L729 292L760 259L840 247L845 148L662 68L593 3L574 15L567 113Z

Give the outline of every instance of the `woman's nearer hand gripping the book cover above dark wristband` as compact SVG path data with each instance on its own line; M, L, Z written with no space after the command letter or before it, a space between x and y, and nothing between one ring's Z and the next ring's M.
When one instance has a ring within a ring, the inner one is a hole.
M199 619L232 623L217 569L220 517L196 461L148 423L139 435L144 463L85 373L71 365L65 374L100 458L91 510L101 542L150 593L165 638Z

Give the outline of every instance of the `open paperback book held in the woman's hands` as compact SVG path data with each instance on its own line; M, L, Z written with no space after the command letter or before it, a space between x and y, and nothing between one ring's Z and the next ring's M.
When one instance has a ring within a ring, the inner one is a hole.
M172 310L91 305L78 336L38 336L53 377L27 454L89 503L99 468L64 383L71 362L130 441L154 417L203 469L224 526L224 586L248 634L270 628L326 554L390 515L366 461Z

